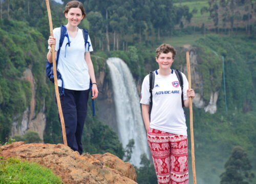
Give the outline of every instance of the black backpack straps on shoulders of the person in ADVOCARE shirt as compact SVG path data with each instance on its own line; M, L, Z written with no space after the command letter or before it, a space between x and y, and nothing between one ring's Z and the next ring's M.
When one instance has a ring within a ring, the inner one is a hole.
M175 74L179 80L180 87L181 87L181 104L182 107L184 107L184 101L183 101L183 78L181 75L181 72L179 70L174 70ZM153 96L152 96L152 90L154 88L154 83L155 83L155 72L150 72L150 111L149 113L151 114L152 106L153 106Z

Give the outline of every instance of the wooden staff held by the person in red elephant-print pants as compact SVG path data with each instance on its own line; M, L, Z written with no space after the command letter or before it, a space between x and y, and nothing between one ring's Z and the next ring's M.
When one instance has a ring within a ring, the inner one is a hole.
M186 52L187 58L187 76L188 76L188 88L191 89L191 76L190 76L190 63L189 63L189 52ZM195 147L194 147L194 130L193 130L193 106L192 98L188 98L189 102L189 119L190 119L190 136L191 136L191 159L192 159L192 171L193 181L197 184L196 166L195 166Z

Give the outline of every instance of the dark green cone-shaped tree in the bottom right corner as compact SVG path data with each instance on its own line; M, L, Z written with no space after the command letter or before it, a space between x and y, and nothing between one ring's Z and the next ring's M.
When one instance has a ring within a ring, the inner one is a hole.
M226 171L221 174L221 184L249 184L254 174L250 160L245 150L234 147L231 156L225 164Z

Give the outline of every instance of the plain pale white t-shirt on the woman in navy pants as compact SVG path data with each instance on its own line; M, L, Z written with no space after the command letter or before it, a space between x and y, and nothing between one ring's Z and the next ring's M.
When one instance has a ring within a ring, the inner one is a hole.
M90 87L88 65L84 58L85 52L88 52L88 44L85 48L82 32L83 31L81 29L78 29L78 33L75 38L69 36L69 39L71 41L70 47L69 45L67 45L66 47L66 44L68 43L68 38L65 37L60 48L57 70L61 74L61 77L63 79L63 87L66 89L87 90ZM55 28L53 30L53 35L56 38L55 51L58 51L60 28ZM89 35L88 41L91 44L91 39ZM50 49L50 46L48 47L48 49ZM89 52L92 51L93 48L92 46L90 46ZM61 80L58 80L58 86L61 87Z

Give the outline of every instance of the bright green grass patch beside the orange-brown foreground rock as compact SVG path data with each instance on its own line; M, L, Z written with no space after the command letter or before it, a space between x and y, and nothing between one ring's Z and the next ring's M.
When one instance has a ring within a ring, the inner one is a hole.
M0 184L58 184L63 183L53 172L36 163L18 158L0 157Z

